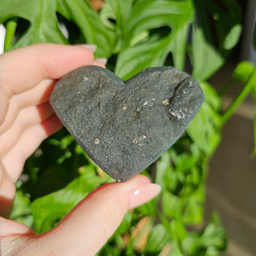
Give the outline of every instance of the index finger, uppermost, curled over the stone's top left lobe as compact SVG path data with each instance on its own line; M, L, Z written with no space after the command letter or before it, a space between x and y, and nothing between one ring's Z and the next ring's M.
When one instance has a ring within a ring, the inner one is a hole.
M85 47L57 44L36 44L1 55L0 125L13 95L32 89L42 79L61 78L93 60L93 53Z

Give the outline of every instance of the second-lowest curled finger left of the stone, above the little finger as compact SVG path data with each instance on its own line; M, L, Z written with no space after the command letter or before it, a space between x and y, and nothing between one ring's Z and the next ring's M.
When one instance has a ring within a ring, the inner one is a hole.
M40 124L42 121L49 118L54 113L49 102L42 103L38 106L30 106L24 108L18 114L14 124L9 129L0 135L0 156L4 158L6 154L14 148L22 133L35 124Z

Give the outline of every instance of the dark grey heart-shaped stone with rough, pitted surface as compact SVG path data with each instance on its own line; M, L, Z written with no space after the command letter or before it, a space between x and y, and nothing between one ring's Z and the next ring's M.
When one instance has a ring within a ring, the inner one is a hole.
M57 82L50 103L92 161L125 181L182 135L203 100L198 83L173 67L148 68L124 82L83 66Z

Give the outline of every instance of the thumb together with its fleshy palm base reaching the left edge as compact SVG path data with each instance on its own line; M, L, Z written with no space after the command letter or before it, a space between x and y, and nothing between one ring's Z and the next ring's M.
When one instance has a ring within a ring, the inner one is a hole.
M68 252L93 256L118 228L128 209L149 201L160 190L159 185L151 184L143 175L128 182L104 185L82 200L53 230L40 235L20 223L0 218L2 247L10 255L20 255L22 244L22 255Z

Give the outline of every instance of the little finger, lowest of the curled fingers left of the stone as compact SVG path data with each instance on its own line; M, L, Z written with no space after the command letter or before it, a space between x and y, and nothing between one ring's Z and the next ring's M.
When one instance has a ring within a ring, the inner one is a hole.
M26 159L31 156L43 140L57 132L61 127L62 122L56 114L52 114L41 124L36 124L25 130L14 148L2 159L5 169L14 182L20 176Z

